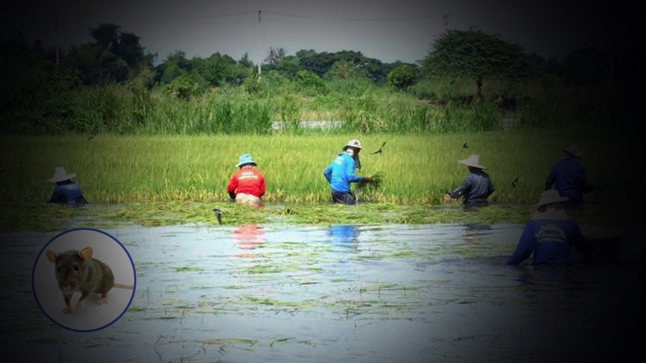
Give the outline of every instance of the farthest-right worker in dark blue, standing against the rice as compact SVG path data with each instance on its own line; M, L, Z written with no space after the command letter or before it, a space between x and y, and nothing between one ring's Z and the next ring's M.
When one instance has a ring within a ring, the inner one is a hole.
M594 185L585 180L585 167L581 165L581 156L585 154L576 145L563 149L565 158L554 165L545 180L545 190L555 189L562 196L567 196L567 204L583 203L583 193L591 192Z

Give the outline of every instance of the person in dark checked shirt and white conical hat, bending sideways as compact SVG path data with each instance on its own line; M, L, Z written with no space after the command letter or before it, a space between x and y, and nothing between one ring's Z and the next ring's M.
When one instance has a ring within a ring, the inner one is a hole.
M468 158L457 162L466 165L469 174L459 187L444 194L444 200L448 201L464 196L463 203L465 207L486 205L495 188L489 174L485 171L486 168L480 165L480 156L472 154Z

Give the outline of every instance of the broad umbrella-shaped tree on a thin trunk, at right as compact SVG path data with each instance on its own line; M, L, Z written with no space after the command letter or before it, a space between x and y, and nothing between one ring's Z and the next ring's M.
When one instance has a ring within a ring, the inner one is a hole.
M422 71L475 79L475 97L482 98L483 79L521 80L531 74L523 48L481 30L447 30L435 39L422 59Z

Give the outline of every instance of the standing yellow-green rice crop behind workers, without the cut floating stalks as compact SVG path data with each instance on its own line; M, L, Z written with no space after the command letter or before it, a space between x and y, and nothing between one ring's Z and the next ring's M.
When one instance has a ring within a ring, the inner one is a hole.
M269 202L324 202L329 185L322 175L350 138L364 145L360 175L380 174L378 189L353 189L360 200L404 204L442 203L444 192L467 175L457 160L481 155L496 191L492 201L535 202L552 163L572 143L587 150L583 159L589 198L634 197L641 180L618 155L629 143L607 143L609 134L497 131L412 136L398 134L293 134L218 136L17 136L0 137L0 200L47 201L54 168L75 172L90 202L225 201L225 187L238 156L250 152L266 174ZM387 141L383 154L370 154ZM464 142L468 149L463 149ZM511 182L519 176L519 185Z

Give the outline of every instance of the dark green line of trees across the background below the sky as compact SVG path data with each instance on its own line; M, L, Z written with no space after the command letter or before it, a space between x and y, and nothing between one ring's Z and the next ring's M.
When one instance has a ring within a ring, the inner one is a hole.
M67 91L124 85L142 96L154 88L177 98L191 98L218 87L244 86L253 93L260 75L247 54L233 59L214 52L189 59L176 50L158 65L140 37L119 25L90 27L92 41L73 45L58 54L40 41L29 44L17 34L0 43L0 121L17 118L65 119L74 113ZM516 43L477 28L447 30L417 63L384 63L353 50L317 52L302 49L287 55L285 48L269 48L260 68L262 75L278 75L316 90L327 81L357 80L406 91L416 83L438 78L470 79L474 98L483 98L483 83L492 79L528 82L559 79L564 85L598 87L621 85L637 89L644 78L643 50L623 54L581 48L558 59L526 54ZM547 77L547 78L546 78ZM417 97L424 97L418 92Z

